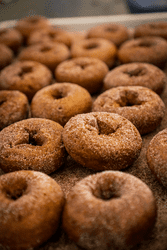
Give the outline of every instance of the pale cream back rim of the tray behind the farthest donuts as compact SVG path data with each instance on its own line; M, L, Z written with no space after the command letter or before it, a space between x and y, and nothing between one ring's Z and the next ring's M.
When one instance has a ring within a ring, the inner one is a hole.
M167 21L167 13L151 14L127 14L112 16L93 16L93 17L70 17L70 18L50 18L51 24L57 25L68 31L84 31L102 23L120 23L128 28L134 28L136 25L146 22ZM0 22L0 28L12 27L17 20Z

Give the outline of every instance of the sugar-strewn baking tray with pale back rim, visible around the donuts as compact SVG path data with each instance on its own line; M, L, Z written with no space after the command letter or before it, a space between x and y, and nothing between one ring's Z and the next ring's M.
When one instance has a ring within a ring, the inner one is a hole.
M102 17L81 17L81 18L58 18L50 19L51 23L57 25L65 30L78 32L85 31L89 28L99 25L101 23L115 22L121 23L128 28L133 29L136 25L149 21L167 21L167 13L154 13L154 14L130 14L121 16L102 16ZM16 20L5 21L0 23L0 28L12 27ZM167 67L164 69L167 73ZM96 98L92 96L93 100ZM161 95L167 107L167 87ZM123 172L131 173L144 181L153 191L158 206L158 218L153 232L134 247L135 250L166 250L167 249L167 190L155 179L148 168L146 162L146 151L150 140L155 134L167 127L167 110L161 125L152 133L142 136L143 146L137 161ZM54 178L62 187L65 196L68 195L71 188L76 182L82 178L95 173L81 165L77 164L70 156L67 157L67 162L56 172L50 176ZM1 174L3 172L1 171ZM1 248L0 248L1 249ZM64 233L61 225L55 235L47 242L37 249L43 250L79 250L80 248ZM128 249L127 249L128 250Z

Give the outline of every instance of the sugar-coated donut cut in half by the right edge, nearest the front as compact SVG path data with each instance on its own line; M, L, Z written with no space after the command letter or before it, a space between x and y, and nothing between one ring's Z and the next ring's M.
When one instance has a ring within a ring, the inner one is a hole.
M146 158L157 180L167 187L167 129L156 134L149 143Z

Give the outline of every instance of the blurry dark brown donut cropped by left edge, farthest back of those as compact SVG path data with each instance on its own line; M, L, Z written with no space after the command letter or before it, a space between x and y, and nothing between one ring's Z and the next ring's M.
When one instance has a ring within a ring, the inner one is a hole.
M23 36L15 28L3 28L0 29L0 43L17 52L23 43Z

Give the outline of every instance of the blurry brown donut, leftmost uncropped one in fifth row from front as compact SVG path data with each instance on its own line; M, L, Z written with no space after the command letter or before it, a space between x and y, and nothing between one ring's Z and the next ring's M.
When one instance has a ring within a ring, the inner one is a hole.
M25 47L18 55L20 61L36 61L54 71L57 65L70 57L69 48L58 42L44 42Z

